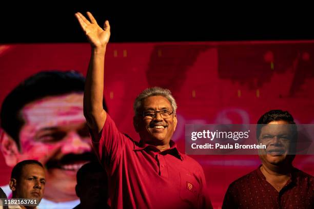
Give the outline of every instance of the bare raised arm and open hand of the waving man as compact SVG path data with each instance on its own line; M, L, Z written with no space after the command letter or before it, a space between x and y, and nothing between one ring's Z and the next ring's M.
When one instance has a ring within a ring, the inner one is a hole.
M107 117L103 109L104 66L110 25L106 20L104 28L101 28L90 12L87 12L87 15L89 20L80 12L75 13L92 49L84 90L84 116L91 129L94 142L97 142Z

